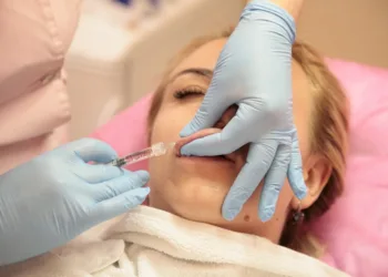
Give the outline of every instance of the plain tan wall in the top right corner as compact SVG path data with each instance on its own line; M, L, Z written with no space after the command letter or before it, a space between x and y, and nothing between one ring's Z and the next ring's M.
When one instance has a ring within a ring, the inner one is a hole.
M297 33L326 55L388 68L388 0L305 0Z

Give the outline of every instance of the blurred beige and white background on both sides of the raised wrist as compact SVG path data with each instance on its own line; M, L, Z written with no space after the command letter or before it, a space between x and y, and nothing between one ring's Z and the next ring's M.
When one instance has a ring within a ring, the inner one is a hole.
M71 138L152 92L178 50L235 25L246 2L84 0L65 64ZM388 69L388 0L306 0L297 37L327 57Z

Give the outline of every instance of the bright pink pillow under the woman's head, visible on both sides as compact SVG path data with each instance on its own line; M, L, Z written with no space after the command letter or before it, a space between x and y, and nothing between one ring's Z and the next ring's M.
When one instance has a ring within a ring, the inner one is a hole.
M327 59L350 99L350 151L344 196L314 226L328 264L351 276L388 276L388 71ZM151 95L92 136L120 155L146 146ZM129 167L146 168L146 163Z

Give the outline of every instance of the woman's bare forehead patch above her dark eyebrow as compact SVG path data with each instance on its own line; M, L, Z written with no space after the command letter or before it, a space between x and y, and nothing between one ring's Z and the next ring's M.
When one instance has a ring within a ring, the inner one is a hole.
M172 73L176 74L192 68L213 70L225 43L226 39L216 39L204 43L185 57Z

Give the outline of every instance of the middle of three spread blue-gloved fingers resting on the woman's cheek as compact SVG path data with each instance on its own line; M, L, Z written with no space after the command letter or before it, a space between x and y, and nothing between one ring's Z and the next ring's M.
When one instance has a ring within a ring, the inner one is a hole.
M263 222L269 220L276 209L279 193L286 181L287 168L290 160L290 145L278 146L276 156L264 179L264 186L258 203L258 216Z

